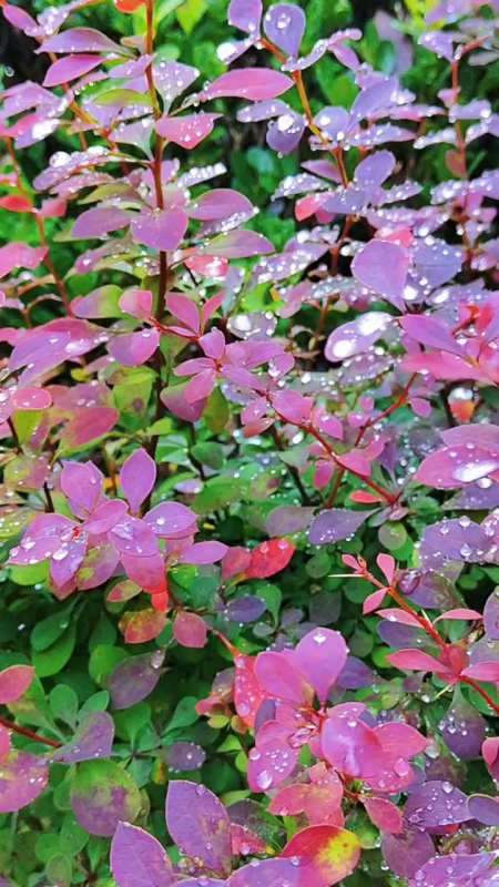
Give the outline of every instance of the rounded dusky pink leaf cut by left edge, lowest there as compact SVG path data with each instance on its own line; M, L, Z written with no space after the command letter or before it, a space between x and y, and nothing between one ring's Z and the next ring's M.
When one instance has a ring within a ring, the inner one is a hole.
M32 804L49 781L45 762L28 752L11 751L0 759L0 813L17 813Z

